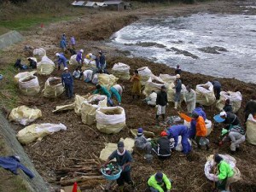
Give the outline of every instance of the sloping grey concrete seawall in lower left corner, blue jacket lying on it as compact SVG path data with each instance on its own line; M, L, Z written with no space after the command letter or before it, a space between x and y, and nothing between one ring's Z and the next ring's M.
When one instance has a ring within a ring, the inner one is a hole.
M15 131L9 125L7 119L4 118L3 113L0 112L0 131L4 136L6 145L9 147L11 154L20 156L20 163L30 169L35 175L34 178L30 179L26 176L24 172L20 172L20 176L24 179L26 183L26 188L31 192L49 192L49 187L44 182L43 178L39 175L35 169L32 161L29 159L24 149L21 147L20 143L15 137Z

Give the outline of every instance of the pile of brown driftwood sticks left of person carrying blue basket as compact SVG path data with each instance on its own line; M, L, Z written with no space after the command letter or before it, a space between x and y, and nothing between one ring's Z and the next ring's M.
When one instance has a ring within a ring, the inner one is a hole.
M73 167L61 167L55 170L56 179L61 186L73 185L78 183L80 189L92 189L96 186L102 187L102 183L106 183L106 179L102 177L100 172L101 162L98 159L75 159Z

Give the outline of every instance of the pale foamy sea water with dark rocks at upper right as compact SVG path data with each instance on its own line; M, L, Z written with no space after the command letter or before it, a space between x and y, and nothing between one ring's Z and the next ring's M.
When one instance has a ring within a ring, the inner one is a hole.
M129 50L134 57L170 67L179 64L191 73L256 83L256 15L138 20L115 32L109 44Z

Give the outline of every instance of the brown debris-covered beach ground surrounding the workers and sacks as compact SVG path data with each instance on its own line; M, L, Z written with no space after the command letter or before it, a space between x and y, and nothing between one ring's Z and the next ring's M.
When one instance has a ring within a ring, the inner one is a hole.
M213 1L209 3L199 3L195 5L177 5L166 8L153 8L153 9L136 9L129 12L98 12L96 15L84 15L80 20L63 21L61 23L55 23L44 28L43 31L35 30L26 35L26 41L15 45L3 52L1 56L1 63L9 64L10 61L15 61L15 58L25 57L26 53L23 52L23 47L29 44L33 47L44 47L47 50L47 55L54 60L56 51L59 51L59 38L62 32L67 33L67 37L74 35L78 40L78 49L84 49L85 52L96 52L99 49L103 49L108 53L108 68L113 67L115 62L121 61L131 66L131 70L138 67L148 66L155 75L160 73L173 74L174 70L165 65L155 64L143 59L130 59L125 57L125 53L120 52L117 49L107 47L101 40L107 40L110 35L122 28L123 26L131 23L139 18L148 16L166 16L166 15L190 15L198 12L207 13L229 13L229 14L241 14L241 7L236 4L236 1ZM14 53L10 58L9 53ZM67 55L68 56L68 55ZM119 56L119 57L117 57ZM3 67L3 66L2 66ZM73 69L73 67L70 67ZM51 74L55 77L60 77L61 72L55 71ZM44 82L48 77L38 76L41 87L44 86ZM196 84L206 83L208 80L212 80L213 77L209 77L201 74L183 73L183 84L192 84L195 88ZM241 121L243 121L242 110L245 107L246 102L250 99L250 96L255 94L255 84L246 84L236 79L220 79L220 82L224 85L225 90L239 90L243 96L243 102L241 109L237 113ZM120 82L119 82L120 83ZM131 96L131 84L129 81L123 81L125 84L125 93L123 96L122 107L125 108L126 113L126 126L125 128L115 135L106 135L96 130L96 125L90 127L97 131L99 136L95 132L83 126L81 119L73 111L63 113L52 113L51 110L56 105L67 104L72 101L67 101L65 96L60 98L49 100L43 96L26 97L20 96L21 104L27 104L31 107L37 107L42 110L43 118L38 119L36 123L63 123L67 125L67 131L61 131L44 137L40 143L31 143L25 146L26 153L29 154L33 160L38 172L49 182L58 183L60 176L56 174L56 169L60 167L69 167L77 165L76 159L90 159L92 157L99 156L100 151L104 147L103 143L117 143L120 137L131 137L129 130L131 128L143 127L147 131L154 131L159 135L159 129L154 128L154 115L155 109L148 108L142 102L130 103ZM76 94L85 95L90 92L92 85L84 84L83 81L76 80L74 91ZM15 88L16 89L16 88ZM30 101L29 103L27 101ZM185 105L183 103L182 110L185 111ZM217 108L214 106L206 107L208 119L212 120L213 114L218 113ZM139 111L139 113L137 113ZM173 110L172 104L167 108L168 115L176 115ZM19 126L16 131L19 131L22 127ZM210 136L212 149L216 149L221 154L229 153L229 146L225 145L224 148L218 148L213 142L215 142L219 136L221 126L216 125ZM106 139L106 140L105 140ZM212 154L211 151L199 151L194 150L191 156L191 161L179 157L179 153L173 153L172 159L167 161L160 161L154 158L152 164L148 165L143 160L143 155L135 151L133 154L134 163L132 165L132 177L137 183L138 191L143 191L146 188L147 178L157 171L165 172L174 181L173 188L175 191L195 191L195 192L209 192L212 188L212 183L207 180L204 175L204 164L206 157ZM238 191L256 191L255 185L255 150L252 145L245 143L241 147L241 151L235 154L237 160L237 166L242 172L242 180L239 183L234 184L233 192ZM86 191L101 191L101 188L96 181L92 183L86 183L84 187ZM131 191L131 189L126 189Z

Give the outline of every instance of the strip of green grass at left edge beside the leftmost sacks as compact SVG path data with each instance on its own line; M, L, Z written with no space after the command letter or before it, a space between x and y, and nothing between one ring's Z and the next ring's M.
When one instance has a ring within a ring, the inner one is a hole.
M1 74L3 74L3 79L0 82L0 106L3 108L16 108L19 96L18 86L15 84L14 78L16 73L17 70L13 64L1 66Z

